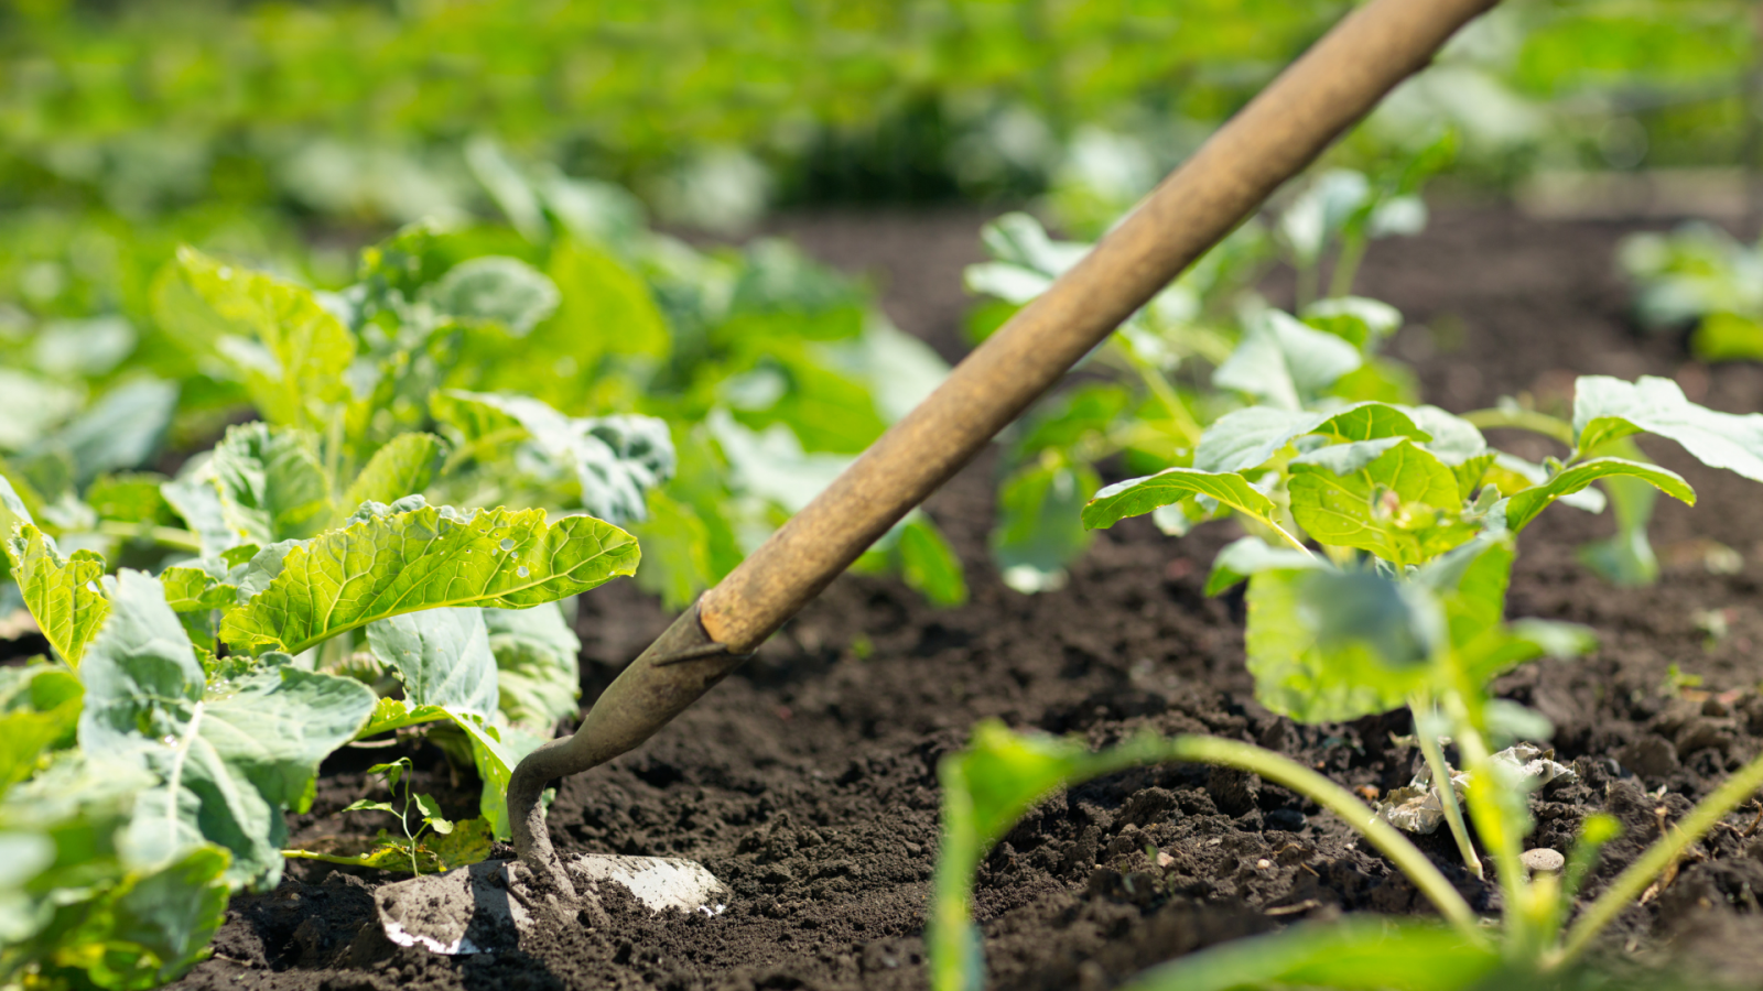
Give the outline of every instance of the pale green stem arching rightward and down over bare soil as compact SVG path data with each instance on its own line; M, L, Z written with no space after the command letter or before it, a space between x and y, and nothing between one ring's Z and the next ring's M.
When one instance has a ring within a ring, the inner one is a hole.
M1328 778L1310 771L1308 767L1262 749L1253 744L1227 741L1218 737L1176 737L1169 741L1169 760L1186 760L1195 764L1218 764L1224 767L1236 767L1241 771L1252 771L1261 774L1268 781L1291 788L1306 799L1312 799L1328 811L1338 815L1347 825L1359 831L1372 846L1377 846L1386 857L1389 857L1396 868L1402 869L1414 882L1414 887L1432 899L1439 908L1439 913L1446 917L1465 938L1476 942L1477 945L1486 943L1486 935L1476 919L1474 910L1463 901L1463 896L1451 887L1439 868L1419 852L1417 846L1409 843L1405 836L1396 832L1396 827L1377 818L1377 815L1365 806L1359 799L1352 797L1350 792L1340 785L1329 781Z

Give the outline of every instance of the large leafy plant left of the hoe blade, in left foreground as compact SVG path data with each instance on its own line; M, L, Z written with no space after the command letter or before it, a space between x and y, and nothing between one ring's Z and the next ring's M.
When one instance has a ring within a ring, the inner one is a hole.
M485 781L483 820L448 823L405 786L425 829L444 836L409 832L346 862L434 869L483 857L492 834L508 836L508 774L541 739L502 712L497 652L508 709L527 725L548 734L561 709L575 711L580 645L554 603L633 573L635 538L585 515L458 511L421 496L367 501L330 527L314 522L328 520L326 488L298 481L314 466L284 443L293 436L245 427L212 458L236 460L217 478L245 480L210 490L215 504L238 497L233 518L280 540L157 577L108 575L90 550L63 555L0 478L14 518L7 557L58 659L9 675L0 711L12 730L0 822L23 845L0 889L0 924L21 947L0 957L9 975L81 972L102 987L176 977L201 957L231 890L277 883L284 811L310 806L319 762L398 726L457 726ZM365 656L328 663L326 647L354 631ZM376 698L354 677L363 665L388 672L400 697Z

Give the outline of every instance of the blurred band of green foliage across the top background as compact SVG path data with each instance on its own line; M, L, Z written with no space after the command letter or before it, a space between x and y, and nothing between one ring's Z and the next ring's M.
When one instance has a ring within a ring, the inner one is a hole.
M684 227L980 201L1093 236L1349 9L7 0L0 353L53 330L111 340L81 351L85 381L123 356L189 381L150 316L176 245L335 287L400 224L518 229L510 162L539 185L621 183ZM1331 164L1449 125L1446 182L1493 192L1539 169L1749 169L1759 18L1744 0L1507 0Z

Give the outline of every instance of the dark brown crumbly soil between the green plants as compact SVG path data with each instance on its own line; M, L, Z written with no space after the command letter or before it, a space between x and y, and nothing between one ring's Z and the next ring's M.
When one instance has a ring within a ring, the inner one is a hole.
M952 353L959 265L977 256L978 220L832 215L779 227L839 265L880 266L894 319ZM1395 351L1449 409L1516 391L1560 404L1581 372L1675 376L1692 399L1759 409L1763 370L1703 369L1682 358L1680 340L1631 328L1611 266L1629 229L1444 212L1423 238L1377 245L1361 291L1409 316ZM1555 721L1560 756L1581 776L1536 799L1534 845L1567 850L1594 809L1627 825L1592 894L1659 834L1661 816L1763 749L1763 488L1664 444L1652 453L1701 494L1694 513L1661 506L1664 580L1624 591L1588 575L1573 548L1613 524L1557 508L1527 531L1511 596L1513 615L1587 622L1603 640L1587 659L1537 663L1502 682ZM520 952L437 957L393 949L367 926L370 885L386 878L294 864L279 890L234 899L215 959L183 986L920 987L936 760L982 718L1095 744L1139 726L1211 732L1278 748L1350 786L1407 781L1416 755L1391 742L1403 718L1296 726L1252 700L1241 605L1201 594L1211 554L1234 536L1225 525L1176 541L1132 520L1097 540L1068 587L1026 598L986 561L989 473L982 458L929 501L968 566L971 603L933 610L892 580L841 578L673 726L562 786L550 813L561 848L695 857L733 889L723 917L615 910L610 929L568 922ZM1742 568L1712 573L1708 541L1738 552ZM629 585L585 596L587 695L666 621ZM1722 635L1708 631L1721 624ZM1673 665L1703 684L1673 688ZM296 838L346 831L337 809L365 794L367 764L384 758L338 756L312 815L294 818ZM432 751L418 758L425 786L469 815L476 783L448 781ZM1696 846L1671 885L1627 910L1608 947L1675 954L1708 984L1758 986L1763 839L1749 836L1752 816L1733 815ZM1425 846L1474 905L1495 906L1442 836ZM1197 947L1358 910L1428 912L1340 822L1202 767L1074 788L1017 825L978 878L993 986L1007 989L1111 987Z

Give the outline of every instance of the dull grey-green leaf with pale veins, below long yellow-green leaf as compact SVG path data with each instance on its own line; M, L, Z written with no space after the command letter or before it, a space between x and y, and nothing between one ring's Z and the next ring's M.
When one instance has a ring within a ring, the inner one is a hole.
M233 852L229 880L263 885L280 876L284 809L303 811L319 762L374 711L363 684L275 654L210 691L162 585L130 570L118 573L115 610L81 679L79 746L125 755L164 781L134 829L160 832L169 848L194 831Z

